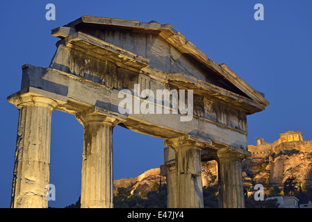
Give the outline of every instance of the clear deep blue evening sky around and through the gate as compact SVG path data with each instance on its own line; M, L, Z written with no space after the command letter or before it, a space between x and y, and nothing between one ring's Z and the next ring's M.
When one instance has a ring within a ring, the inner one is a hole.
M299 3L298 3L299 2ZM47 21L47 3L56 20ZM254 19L254 5L264 6L264 20ZM51 29L83 15L172 24L208 58L225 63L270 102L247 117L249 144L279 133L311 128L311 0L206 1L0 1L1 155L0 207L10 206L18 110L6 97L20 89L22 65L48 67L58 38ZM163 140L117 126L113 135L114 178L135 177L163 164ZM56 186L51 207L78 200L81 189L83 127L73 115L52 114L50 182Z

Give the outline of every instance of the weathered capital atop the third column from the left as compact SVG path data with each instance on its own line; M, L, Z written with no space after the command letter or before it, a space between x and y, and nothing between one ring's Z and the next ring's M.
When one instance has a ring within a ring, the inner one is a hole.
M176 149L181 148L205 148L206 143L197 139L197 137L193 137L192 135L183 135L181 137L176 137L172 139L167 139L164 142L165 146L170 146Z

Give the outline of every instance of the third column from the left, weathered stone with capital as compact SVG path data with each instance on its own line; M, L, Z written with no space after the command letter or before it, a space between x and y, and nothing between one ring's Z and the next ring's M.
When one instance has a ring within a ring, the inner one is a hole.
M178 208L204 207L200 155L205 144L183 136L168 139L165 145L174 148L176 152L176 175L169 181L173 183L169 186L176 189L176 203L170 203L172 200L169 200L170 205Z

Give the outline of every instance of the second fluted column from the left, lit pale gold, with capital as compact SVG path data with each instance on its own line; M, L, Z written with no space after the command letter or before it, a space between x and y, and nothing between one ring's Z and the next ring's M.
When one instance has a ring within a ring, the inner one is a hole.
M81 207L113 207L113 127L115 117L94 109L76 115L84 127Z

